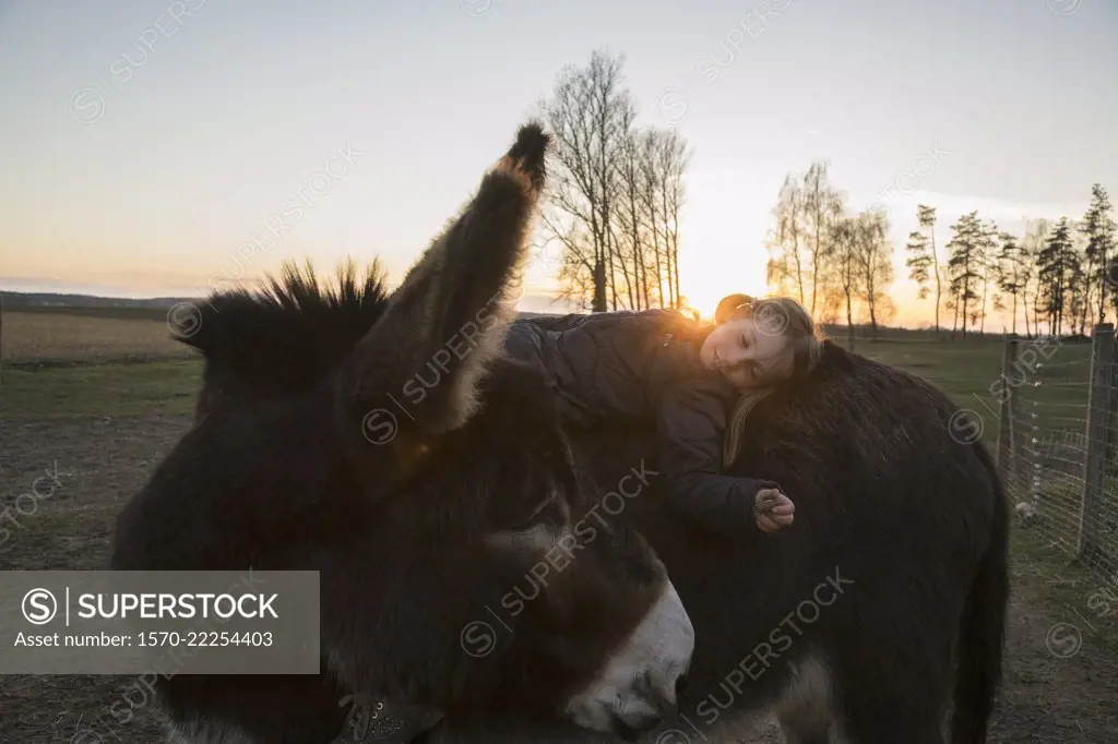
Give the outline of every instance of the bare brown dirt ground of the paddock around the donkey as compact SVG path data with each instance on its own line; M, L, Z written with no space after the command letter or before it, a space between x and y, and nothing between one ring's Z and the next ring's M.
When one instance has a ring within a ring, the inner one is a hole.
M0 545L0 570L105 567L116 509L145 483L188 423L182 416L0 421L0 509L13 505L46 468L57 467L61 483L34 509L25 499L30 514L9 512L19 527L3 525L12 534ZM992 741L1118 742L1118 662L1105 640L1114 637L1115 619L1084 614L1088 589L1079 592L1084 595L1078 605L1042 605L1031 594L1038 578L1026 574L1033 567L1026 560L1014 564L1005 684ZM1081 629L1081 646L1069 639L1067 623ZM158 716L134 683L107 676L0 677L0 742L160 741ZM136 712L122 723L110 707L125 695ZM762 725L741 741L779 738Z

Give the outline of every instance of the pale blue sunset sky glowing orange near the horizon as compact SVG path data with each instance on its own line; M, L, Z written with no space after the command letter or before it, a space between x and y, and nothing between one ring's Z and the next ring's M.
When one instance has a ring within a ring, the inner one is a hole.
M683 292L710 312L765 290L777 191L813 159L853 207L882 199L898 248L921 201L942 246L972 209L1020 231L1081 218L1093 182L1118 200L1116 41L1111 0L0 2L0 288L198 295L378 255L397 282L559 70L607 49L639 122L694 147Z

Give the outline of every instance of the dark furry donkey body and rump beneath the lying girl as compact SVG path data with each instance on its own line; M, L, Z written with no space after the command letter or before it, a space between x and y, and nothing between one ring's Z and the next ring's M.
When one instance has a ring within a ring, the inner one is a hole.
M739 417L740 419L740 417ZM769 708L790 744L986 741L1008 595L1007 505L973 425L931 384L825 342L802 385L748 412L731 474L776 480L796 523L727 540L675 518L653 483L604 509L667 566L697 646L656 744L738 742ZM569 432L604 484L647 427ZM617 494L615 494L617 495ZM424 744L597 737L530 716L447 717Z

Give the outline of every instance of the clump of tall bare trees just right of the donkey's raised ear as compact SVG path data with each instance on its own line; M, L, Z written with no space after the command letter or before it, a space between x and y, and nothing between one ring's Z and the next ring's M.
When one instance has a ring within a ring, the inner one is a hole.
M623 66L596 51L563 69L541 104L556 136L543 226L563 247L560 292L580 307L679 307L690 149L674 130L635 126Z

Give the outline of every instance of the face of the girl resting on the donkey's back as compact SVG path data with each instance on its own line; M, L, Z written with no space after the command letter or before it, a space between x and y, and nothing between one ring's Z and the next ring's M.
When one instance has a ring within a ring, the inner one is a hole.
M739 390L785 380L793 368L788 337L770 328L751 317L723 323L707 336L699 360Z

